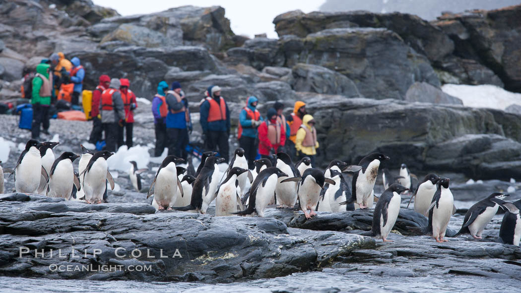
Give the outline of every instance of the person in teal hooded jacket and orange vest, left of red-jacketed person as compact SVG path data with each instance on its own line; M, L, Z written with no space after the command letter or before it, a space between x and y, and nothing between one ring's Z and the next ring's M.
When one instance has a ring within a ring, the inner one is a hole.
M257 103L257 97L250 96L246 107L239 114L239 147L244 149L250 170L255 167L253 161L257 156L257 127L263 121L261 113L256 109Z

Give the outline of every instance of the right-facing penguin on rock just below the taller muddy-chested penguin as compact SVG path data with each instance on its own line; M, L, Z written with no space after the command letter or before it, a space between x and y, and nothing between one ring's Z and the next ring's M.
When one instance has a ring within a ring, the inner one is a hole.
M408 188L393 183L382 193L373 213L373 228L371 228L373 237L382 238L382 241L391 241L387 240L387 236L400 213L400 203L402 202L400 194L406 190Z

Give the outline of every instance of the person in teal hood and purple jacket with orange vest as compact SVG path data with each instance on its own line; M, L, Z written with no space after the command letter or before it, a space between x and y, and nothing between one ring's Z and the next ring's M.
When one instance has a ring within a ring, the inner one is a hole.
M154 157L163 154L163 150L167 147L166 136L166 116L168 114L168 105L166 104L166 92L168 91L168 83L162 80L157 85L157 94L152 99L152 114L154 115L154 130L156 133L156 147L154 149Z

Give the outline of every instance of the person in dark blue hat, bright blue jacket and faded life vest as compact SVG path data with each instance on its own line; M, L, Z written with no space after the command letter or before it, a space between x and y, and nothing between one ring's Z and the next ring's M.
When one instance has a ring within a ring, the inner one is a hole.
M186 146L188 132L192 131L188 100L184 97L179 82L173 82L171 90L166 93L168 114L166 116L166 133L168 136L168 155L187 159Z

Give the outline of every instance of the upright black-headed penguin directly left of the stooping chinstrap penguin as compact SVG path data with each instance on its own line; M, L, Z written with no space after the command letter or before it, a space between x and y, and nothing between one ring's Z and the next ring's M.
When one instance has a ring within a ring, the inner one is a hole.
M449 189L449 183L450 179L448 178L440 178L438 180L436 183L438 189L432 197L432 202L428 208L429 224L427 233L431 234L437 242L449 241L448 239L443 239L454 207L454 197Z

